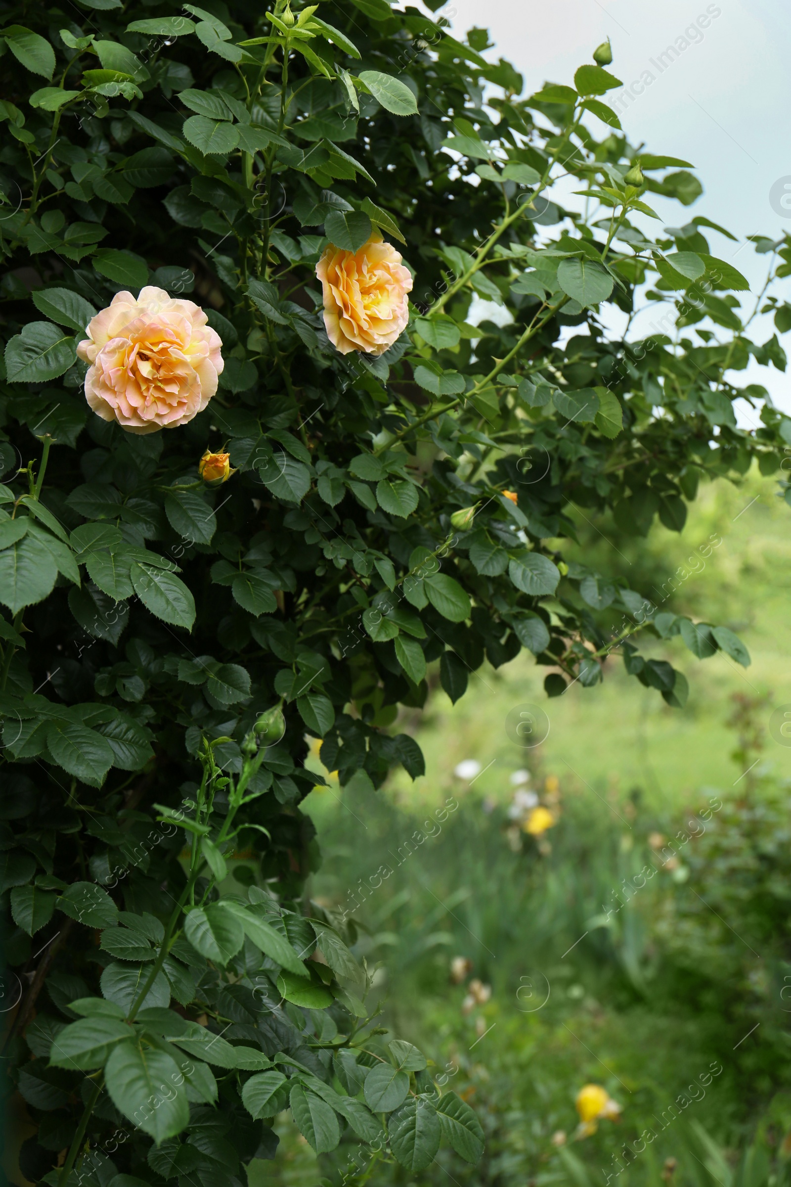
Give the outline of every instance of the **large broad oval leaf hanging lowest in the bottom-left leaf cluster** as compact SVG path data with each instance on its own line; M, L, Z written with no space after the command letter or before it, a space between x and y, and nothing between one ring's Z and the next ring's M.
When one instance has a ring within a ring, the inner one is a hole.
M180 1134L190 1121L183 1075L162 1050L139 1041L119 1043L104 1067L104 1083L119 1112L157 1144Z

